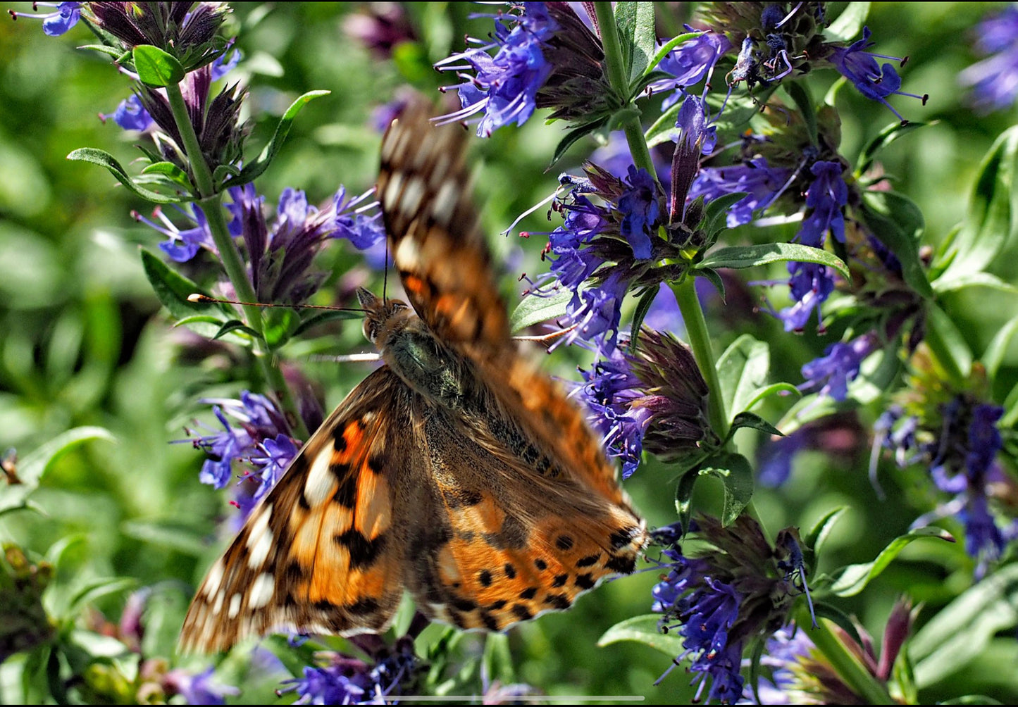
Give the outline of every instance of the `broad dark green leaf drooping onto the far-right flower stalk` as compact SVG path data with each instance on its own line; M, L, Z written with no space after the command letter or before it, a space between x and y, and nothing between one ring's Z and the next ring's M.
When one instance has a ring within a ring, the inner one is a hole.
M932 298L934 291L919 259L919 236L925 225L915 202L893 191L864 191L861 216L901 262L905 282L922 297Z

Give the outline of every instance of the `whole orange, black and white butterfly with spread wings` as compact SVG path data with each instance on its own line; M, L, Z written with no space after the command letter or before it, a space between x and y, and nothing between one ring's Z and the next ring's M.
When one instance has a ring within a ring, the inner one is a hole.
M500 631L633 571L644 521L580 410L510 336L464 134L422 101L386 132L377 194L409 306L358 291L384 365L209 570L183 649L383 632L404 590L430 618Z

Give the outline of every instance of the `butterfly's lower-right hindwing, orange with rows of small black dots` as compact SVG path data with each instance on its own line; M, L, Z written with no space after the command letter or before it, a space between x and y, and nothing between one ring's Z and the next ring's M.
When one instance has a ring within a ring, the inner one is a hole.
M632 572L644 531L628 506L493 455L461 427L441 410L423 423L442 513L414 532L409 553L407 585L420 610L498 631L568 608L602 578Z

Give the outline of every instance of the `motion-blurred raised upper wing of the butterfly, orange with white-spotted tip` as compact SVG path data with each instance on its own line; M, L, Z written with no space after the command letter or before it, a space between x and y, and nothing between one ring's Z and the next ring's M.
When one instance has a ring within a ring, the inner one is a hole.
M445 343L490 356L509 342L506 305L477 226L465 130L436 127L423 101L386 131L376 192L410 304Z

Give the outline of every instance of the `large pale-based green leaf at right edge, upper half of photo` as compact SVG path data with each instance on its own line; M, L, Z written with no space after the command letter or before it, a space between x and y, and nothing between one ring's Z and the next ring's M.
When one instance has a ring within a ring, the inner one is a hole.
M1005 130L989 149L972 187L968 213L961 230L942 259L953 258L941 275L951 281L982 271L1015 236L1012 190L1015 157L1018 155L1018 126ZM938 266L941 266L938 261Z

